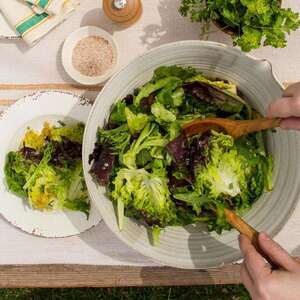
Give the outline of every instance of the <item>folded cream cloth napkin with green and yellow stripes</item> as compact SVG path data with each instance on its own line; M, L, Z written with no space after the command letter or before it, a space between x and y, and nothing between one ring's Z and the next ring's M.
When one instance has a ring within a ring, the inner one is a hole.
M29 45L64 21L79 0L0 0L7 22Z

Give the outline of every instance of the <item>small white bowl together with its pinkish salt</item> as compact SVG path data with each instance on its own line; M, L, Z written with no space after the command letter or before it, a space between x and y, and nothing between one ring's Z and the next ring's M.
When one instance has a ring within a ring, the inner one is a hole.
M117 64L117 44L112 35L99 27L81 27L64 42L62 65L80 84L103 83L113 75Z

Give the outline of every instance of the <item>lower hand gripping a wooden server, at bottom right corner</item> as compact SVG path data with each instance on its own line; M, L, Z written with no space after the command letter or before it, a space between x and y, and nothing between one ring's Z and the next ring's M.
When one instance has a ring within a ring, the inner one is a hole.
M260 233L262 251L280 268L272 270L256 251L249 238L240 235L239 244L244 256L241 279L253 300L299 300L300 263L266 233Z

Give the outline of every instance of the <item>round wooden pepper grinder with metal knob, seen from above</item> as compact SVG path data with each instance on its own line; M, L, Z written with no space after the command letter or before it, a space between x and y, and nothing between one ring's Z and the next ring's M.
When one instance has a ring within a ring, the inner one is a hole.
M141 0L103 0L105 14L114 22L130 26L142 15Z

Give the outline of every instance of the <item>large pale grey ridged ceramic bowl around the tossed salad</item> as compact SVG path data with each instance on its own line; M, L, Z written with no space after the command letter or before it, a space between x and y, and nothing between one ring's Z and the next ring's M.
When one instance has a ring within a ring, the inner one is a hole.
M166 265L180 268L211 268L232 263L240 258L237 232L221 236L208 233L201 225L168 227L160 245L149 244L145 227L130 219L119 231L112 202L89 174L88 155L93 151L98 126L103 126L113 103L134 88L147 82L153 70L162 65L191 65L205 75L235 82L245 97L260 113L282 94L280 83L265 60L254 59L238 49L213 42L184 41L167 44L138 57L116 74L103 88L91 111L83 147L85 179L92 201L108 227L126 244ZM278 130L267 136L268 151L275 161L274 190L264 194L244 217L259 231L272 236L287 222L299 199L300 141L299 134Z

